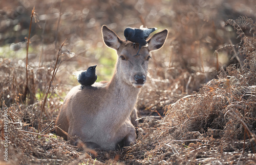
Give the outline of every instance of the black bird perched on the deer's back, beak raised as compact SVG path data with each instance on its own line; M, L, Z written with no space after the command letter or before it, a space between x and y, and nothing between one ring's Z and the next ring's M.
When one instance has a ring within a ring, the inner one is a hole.
M75 74L77 76L78 82L81 84L81 89L84 88L84 86L91 86L94 84L94 82L97 80L97 74L95 73L95 66L89 67L85 71L81 71L80 74Z

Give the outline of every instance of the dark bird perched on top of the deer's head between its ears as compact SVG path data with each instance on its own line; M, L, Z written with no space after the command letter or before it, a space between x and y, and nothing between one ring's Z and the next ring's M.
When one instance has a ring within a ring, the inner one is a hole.
M150 34L154 31L156 31L157 28L143 28L143 25L140 26L140 29L138 28L125 28L124 30L124 37L127 40L134 42L134 43L139 43L139 51L141 49L142 46L146 46L147 42L146 39L148 36L150 36ZM137 52L137 54L135 56L138 56L140 54L139 51Z

